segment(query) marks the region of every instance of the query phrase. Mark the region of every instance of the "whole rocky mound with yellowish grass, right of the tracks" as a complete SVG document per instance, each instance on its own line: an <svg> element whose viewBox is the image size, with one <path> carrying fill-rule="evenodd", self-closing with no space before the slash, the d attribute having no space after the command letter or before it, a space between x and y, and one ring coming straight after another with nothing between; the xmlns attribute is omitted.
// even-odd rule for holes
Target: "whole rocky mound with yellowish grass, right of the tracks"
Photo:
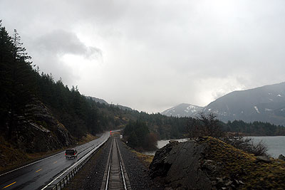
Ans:
<svg viewBox="0 0 285 190"><path fill-rule="evenodd" d="M284 160L255 157L212 137L167 144L150 164L150 176L166 189L285 189L284 171Z"/></svg>

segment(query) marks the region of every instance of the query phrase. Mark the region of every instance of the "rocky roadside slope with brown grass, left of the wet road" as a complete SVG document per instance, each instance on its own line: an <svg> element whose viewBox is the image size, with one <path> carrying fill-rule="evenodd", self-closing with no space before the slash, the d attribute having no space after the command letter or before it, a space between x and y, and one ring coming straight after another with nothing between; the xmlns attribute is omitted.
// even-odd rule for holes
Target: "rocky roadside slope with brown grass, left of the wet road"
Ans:
<svg viewBox="0 0 285 190"><path fill-rule="evenodd" d="M53 117L46 105L37 100L31 108L33 119L18 122L13 139L7 141L0 136L0 171L76 144L70 132Z"/></svg>

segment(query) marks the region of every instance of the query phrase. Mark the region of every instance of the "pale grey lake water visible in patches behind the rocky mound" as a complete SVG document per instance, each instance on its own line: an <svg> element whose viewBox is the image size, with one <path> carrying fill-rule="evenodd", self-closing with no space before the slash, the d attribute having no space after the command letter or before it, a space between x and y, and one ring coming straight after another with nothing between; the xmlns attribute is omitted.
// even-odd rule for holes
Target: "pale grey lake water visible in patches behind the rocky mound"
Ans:
<svg viewBox="0 0 285 190"><path fill-rule="evenodd" d="M285 136L275 137L250 137L254 143L258 143L262 140L266 144L268 151L267 153L274 158L279 157L279 154L285 156ZM169 143L170 140L159 140L157 141L157 148L162 148ZM178 142L185 142L187 139L177 139ZM155 152L144 152L144 154L155 155Z"/></svg>

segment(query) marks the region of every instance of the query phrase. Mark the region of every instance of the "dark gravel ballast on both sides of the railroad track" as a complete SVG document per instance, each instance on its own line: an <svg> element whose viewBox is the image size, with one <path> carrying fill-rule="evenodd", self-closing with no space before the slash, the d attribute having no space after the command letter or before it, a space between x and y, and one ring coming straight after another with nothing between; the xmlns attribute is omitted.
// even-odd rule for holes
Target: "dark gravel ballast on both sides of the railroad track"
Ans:
<svg viewBox="0 0 285 190"><path fill-rule="evenodd" d="M65 189L68 190L91 190L100 189L103 174L107 164L108 153L110 151L111 138L101 147L89 162L76 174ZM160 184L150 179L148 168L142 163L135 153L131 152L125 144L118 140L120 153L123 157L125 169L130 179L130 186L133 190L161 190Z"/></svg>

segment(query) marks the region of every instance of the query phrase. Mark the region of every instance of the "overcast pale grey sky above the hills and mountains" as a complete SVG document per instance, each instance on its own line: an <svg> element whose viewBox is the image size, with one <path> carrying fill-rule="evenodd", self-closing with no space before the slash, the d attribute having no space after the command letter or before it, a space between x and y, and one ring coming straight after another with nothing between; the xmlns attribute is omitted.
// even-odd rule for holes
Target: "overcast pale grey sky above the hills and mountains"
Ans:
<svg viewBox="0 0 285 190"><path fill-rule="evenodd" d="M33 63L146 112L285 81L285 1L13 1L0 19Z"/></svg>

